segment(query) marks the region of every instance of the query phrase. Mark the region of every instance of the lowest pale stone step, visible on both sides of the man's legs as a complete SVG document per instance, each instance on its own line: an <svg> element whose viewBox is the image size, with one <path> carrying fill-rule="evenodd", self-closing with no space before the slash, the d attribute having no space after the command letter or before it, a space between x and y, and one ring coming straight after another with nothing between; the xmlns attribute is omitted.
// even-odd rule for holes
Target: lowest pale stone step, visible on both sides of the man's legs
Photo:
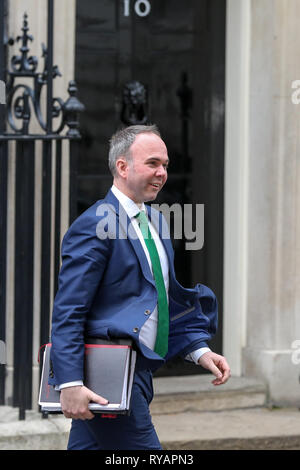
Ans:
<svg viewBox="0 0 300 470"><path fill-rule="evenodd" d="M66 449L71 420L28 418L0 422L0 450ZM164 450L300 450L299 418L297 408L262 407L156 414L152 420Z"/></svg>

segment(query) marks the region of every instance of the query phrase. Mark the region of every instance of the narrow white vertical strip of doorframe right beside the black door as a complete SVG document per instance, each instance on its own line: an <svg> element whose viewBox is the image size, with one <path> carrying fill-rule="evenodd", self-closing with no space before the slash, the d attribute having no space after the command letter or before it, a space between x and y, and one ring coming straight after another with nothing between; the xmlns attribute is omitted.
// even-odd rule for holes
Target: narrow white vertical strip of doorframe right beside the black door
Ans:
<svg viewBox="0 0 300 470"><path fill-rule="evenodd" d="M246 345L250 0L227 0L224 355L242 373Z"/></svg>

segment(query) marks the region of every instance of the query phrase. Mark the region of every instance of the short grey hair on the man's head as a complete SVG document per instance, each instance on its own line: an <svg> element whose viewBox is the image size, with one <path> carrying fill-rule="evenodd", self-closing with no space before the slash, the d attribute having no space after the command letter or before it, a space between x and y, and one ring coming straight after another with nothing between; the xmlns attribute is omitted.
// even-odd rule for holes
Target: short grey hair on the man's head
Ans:
<svg viewBox="0 0 300 470"><path fill-rule="evenodd" d="M130 147L135 141L136 136L147 132L161 137L158 127L155 124L125 127L112 136L109 141L108 166L113 176L117 174L116 162L118 158L125 157L125 159L130 162Z"/></svg>

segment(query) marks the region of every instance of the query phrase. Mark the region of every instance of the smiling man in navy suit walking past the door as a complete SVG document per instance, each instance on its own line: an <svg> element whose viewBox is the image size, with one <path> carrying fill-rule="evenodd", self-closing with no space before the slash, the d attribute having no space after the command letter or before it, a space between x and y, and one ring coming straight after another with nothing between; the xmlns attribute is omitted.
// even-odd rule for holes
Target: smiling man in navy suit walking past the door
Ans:
<svg viewBox="0 0 300 470"><path fill-rule="evenodd" d="M166 222L144 204L154 201L165 184L168 163L156 126L118 131L110 141L111 190L64 237L52 317L50 382L61 390L64 415L73 418L69 449L160 449L149 413L152 371L176 355L210 370L214 385L230 377L226 359L207 346L217 327L215 295L202 284L185 289L177 282L171 241L164 235ZM137 218L141 212L155 242L167 298L163 353L155 349L158 286ZM88 409L90 401L107 400L83 385L85 336L133 339L138 358L129 416L108 419Z"/></svg>

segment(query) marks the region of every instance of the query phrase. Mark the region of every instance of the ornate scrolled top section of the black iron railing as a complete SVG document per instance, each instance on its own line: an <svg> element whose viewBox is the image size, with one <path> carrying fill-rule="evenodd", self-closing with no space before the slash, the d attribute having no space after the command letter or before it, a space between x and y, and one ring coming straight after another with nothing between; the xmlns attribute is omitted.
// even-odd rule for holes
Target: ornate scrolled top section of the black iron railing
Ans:
<svg viewBox="0 0 300 470"><path fill-rule="evenodd" d="M51 4L53 2L49 2ZM49 25L50 21L50 25ZM51 8L49 11L48 28L53 27L53 18L51 18ZM76 98L77 88L74 81L69 83L68 92L70 97L67 101L63 101L59 97L52 96L52 82L57 76L61 76L58 66L53 66L53 37L52 34L48 34L48 48L45 44L42 44L42 58L44 60L43 71L38 72L38 59L35 56L28 56L29 47L28 42L33 41L33 36L28 34L28 17L24 14L23 34L17 36L16 41L22 43L20 47L20 55L14 55L10 61L10 68L7 70L7 120L11 127L13 134L5 133L7 137L26 136L29 135L29 126L32 117L31 106L32 105L37 122L39 123L41 130L45 131L46 135L55 134L55 136L61 135L65 126L69 127L66 133L67 137L78 138L80 137L78 131L78 119L77 113L83 111L83 105ZM13 41L10 40L10 44ZM25 83L16 83L18 78L29 78L32 80L32 86ZM41 95L43 88L47 88L47 116L44 119L41 111ZM18 95L18 92L23 90L22 94ZM52 128L53 119L60 117L60 123L57 129ZM20 123L18 127L17 123ZM41 135L39 134L39 137ZM37 135L32 135L37 137ZM45 137L45 136L43 136ZM54 136L53 136L54 137Z"/></svg>

